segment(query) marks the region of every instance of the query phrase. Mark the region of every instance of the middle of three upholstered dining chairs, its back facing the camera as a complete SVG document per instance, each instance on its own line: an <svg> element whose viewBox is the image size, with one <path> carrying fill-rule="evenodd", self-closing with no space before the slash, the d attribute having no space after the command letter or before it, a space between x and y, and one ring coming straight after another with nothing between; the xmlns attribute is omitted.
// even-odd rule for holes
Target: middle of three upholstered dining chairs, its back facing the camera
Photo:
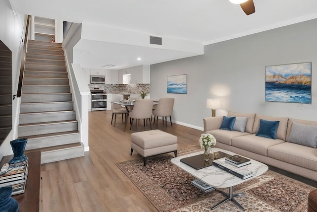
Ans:
<svg viewBox="0 0 317 212"><path fill-rule="evenodd" d="M152 125L151 125L152 109L153 109L152 99L136 99L133 109L129 113L129 116L131 118L130 130L132 129L134 120L135 120L135 130L137 130L138 122L140 122L140 119L143 119L144 128L145 128L145 120L149 119L150 128L152 130Z"/></svg>

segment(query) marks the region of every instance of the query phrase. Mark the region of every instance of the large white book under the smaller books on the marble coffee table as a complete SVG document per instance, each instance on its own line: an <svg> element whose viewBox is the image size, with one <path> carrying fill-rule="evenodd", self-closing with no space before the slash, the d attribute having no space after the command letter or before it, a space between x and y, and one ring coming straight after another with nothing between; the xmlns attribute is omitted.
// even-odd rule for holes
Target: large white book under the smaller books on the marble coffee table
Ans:
<svg viewBox="0 0 317 212"><path fill-rule="evenodd" d="M220 158L217 160L213 160L212 164L230 174L233 174L243 180L248 179L253 176L253 172L249 171L245 167L236 167L234 165L230 165L225 162L225 158Z"/></svg>

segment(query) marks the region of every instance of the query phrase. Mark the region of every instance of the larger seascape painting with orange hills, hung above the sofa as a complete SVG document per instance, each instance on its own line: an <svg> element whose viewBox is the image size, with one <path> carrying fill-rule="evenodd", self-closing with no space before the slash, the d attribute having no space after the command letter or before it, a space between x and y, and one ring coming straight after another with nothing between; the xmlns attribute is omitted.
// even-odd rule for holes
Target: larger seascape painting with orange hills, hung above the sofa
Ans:
<svg viewBox="0 0 317 212"><path fill-rule="evenodd" d="M312 63L265 67L265 101L312 103Z"/></svg>

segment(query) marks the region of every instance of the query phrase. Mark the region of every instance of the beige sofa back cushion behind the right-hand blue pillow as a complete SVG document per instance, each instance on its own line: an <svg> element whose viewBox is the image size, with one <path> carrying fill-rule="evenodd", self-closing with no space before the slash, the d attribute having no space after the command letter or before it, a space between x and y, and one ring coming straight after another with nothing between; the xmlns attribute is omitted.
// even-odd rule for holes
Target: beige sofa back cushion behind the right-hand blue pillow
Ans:
<svg viewBox="0 0 317 212"><path fill-rule="evenodd" d="M264 119L267 121L279 121L279 125L278 125L277 130L276 130L276 139L281 139L281 140L286 141L286 131L287 131L288 118L263 116L263 115L256 114L252 134L258 133L261 119Z"/></svg>

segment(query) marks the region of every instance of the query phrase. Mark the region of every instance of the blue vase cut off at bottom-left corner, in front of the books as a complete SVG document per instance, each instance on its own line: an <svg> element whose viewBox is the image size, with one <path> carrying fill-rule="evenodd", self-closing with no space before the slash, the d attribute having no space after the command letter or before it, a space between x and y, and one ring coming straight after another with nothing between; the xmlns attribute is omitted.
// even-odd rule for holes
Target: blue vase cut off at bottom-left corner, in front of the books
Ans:
<svg viewBox="0 0 317 212"><path fill-rule="evenodd" d="M0 188L0 212L18 212L19 204L11 197L12 187Z"/></svg>

